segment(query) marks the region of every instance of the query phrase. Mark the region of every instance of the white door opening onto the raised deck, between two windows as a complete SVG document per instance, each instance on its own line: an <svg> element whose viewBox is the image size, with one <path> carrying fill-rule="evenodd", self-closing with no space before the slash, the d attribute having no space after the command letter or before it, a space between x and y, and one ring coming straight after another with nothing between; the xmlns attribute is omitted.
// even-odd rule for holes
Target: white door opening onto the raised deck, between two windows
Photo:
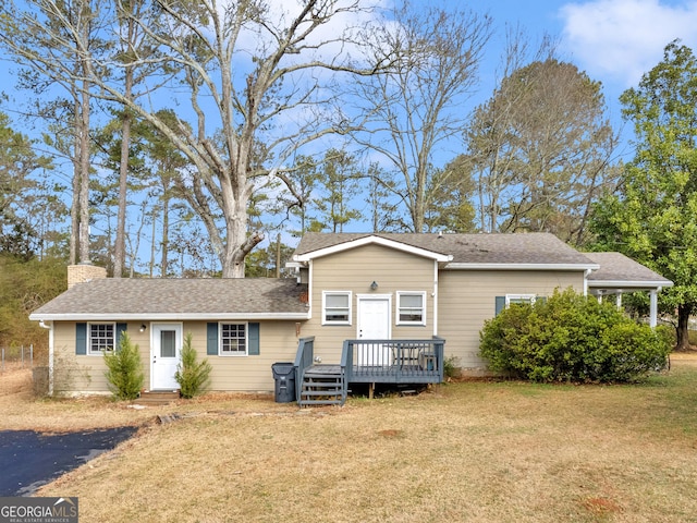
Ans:
<svg viewBox="0 0 697 523"><path fill-rule="evenodd" d="M391 335L390 295L370 295L358 297L358 339L389 340ZM390 350L382 343L359 345L358 365L389 365Z"/></svg>

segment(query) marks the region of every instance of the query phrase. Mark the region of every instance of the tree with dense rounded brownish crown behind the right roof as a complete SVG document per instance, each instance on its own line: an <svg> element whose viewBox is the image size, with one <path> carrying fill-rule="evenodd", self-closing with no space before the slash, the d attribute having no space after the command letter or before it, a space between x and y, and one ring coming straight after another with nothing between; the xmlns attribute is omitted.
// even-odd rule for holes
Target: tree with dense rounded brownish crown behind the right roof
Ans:
<svg viewBox="0 0 697 523"><path fill-rule="evenodd" d="M503 78L465 137L485 231L548 231L583 244L612 184L616 135L600 85L551 56Z"/></svg>

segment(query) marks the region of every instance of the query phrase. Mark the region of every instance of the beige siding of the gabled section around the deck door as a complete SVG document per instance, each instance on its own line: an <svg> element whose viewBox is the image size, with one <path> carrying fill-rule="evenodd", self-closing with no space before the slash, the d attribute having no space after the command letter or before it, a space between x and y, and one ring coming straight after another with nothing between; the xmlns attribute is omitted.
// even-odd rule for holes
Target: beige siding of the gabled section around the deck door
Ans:
<svg viewBox="0 0 697 523"><path fill-rule="evenodd" d="M381 245L365 245L313 260L311 314L302 336L315 337L315 354L322 363L339 363L344 340L357 338L358 295L391 296L392 338L433 336L435 262ZM370 283L378 283L374 291ZM351 325L322 325L322 291L351 291ZM396 325L396 291L426 293L426 325Z"/></svg>

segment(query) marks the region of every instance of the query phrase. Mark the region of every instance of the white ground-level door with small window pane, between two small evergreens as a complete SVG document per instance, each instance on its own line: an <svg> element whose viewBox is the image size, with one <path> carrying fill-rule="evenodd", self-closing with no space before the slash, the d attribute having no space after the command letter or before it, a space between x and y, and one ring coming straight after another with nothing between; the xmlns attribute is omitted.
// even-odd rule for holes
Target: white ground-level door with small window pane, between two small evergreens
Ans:
<svg viewBox="0 0 697 523"><path fill-rule="evenodd" d="M182 324L152 324L150 389L176 390L174 379L182 352Z"/></svg>

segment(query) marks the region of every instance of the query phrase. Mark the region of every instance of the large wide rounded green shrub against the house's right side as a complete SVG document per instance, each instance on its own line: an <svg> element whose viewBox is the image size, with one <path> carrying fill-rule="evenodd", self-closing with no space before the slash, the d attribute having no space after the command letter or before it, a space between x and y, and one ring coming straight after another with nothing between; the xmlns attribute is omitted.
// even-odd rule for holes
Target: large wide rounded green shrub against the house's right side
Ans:
<svg viewBox="0 0 697 523"><path fill-rule="evenodd" d="M610 303L555 291L514 304L485 323L480 354L489 367L534 381L632 381L665 367L669 329L651 329Z"/></svg>

